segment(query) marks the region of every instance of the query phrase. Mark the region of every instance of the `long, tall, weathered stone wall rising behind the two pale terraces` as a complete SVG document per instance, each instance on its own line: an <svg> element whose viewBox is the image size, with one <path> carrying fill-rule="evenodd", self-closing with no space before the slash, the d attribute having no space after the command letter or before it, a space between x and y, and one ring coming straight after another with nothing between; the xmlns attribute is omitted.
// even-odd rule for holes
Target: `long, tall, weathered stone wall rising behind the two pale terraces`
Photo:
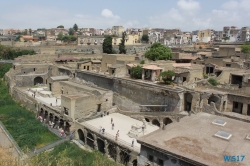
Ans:
<svg viewBox="0 0 250 166"><path fill-rule="evenodd" d="M129 108L127 105L133 101L133 105L138 107L142 105L168 105L168 110L179 112L182 110L182 92L171 90L170 88L159 87L157 85L140 83L133 80L111 78L97 73L78 71L76 77L94 83L95 85L112 90L114 93L123 97L123 100L116 98L114 95L115 103L124 108ZM133 106L132 105L132 106Z"/></svg>

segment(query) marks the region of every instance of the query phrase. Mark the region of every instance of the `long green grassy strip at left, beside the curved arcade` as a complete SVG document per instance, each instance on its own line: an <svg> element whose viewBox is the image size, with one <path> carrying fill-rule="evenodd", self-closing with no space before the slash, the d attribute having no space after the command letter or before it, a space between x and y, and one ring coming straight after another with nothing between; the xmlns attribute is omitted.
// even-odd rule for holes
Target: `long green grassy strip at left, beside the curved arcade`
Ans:
<svg viewBox="0 0 250 166"><path fill-rule="evenodd" d="M27 111L12 100L3 81L0 81L0 94L0 121L21 149L28 151L58 139L35 119L35 113Z"/></svg>

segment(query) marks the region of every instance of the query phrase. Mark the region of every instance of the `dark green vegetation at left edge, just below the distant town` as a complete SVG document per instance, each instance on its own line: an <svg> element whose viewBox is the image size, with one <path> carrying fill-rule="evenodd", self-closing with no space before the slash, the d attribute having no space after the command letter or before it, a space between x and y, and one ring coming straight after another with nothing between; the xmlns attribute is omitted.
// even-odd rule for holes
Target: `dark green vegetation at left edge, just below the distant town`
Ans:
<svg viewBox="0 0 250 166"><path fill-rule="evenodd" d="M13 48L10 46L0 45L0 59L14 59L22 55L34 55L36 52L34 50L21 50L18 48Z"/></svg>

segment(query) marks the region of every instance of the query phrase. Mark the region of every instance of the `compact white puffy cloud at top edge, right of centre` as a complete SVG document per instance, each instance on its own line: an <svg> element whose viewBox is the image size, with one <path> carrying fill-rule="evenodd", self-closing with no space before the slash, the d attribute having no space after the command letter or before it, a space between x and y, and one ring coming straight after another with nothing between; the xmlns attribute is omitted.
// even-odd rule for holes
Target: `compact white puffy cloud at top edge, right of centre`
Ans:
<svg viewBox="0 0 250 166"><path fill-rule="evenodd" d="M197 11L201 9L200 3L193 0L179 0L177 2L177 6L181 10L186 10L186 11Z"/></svg>

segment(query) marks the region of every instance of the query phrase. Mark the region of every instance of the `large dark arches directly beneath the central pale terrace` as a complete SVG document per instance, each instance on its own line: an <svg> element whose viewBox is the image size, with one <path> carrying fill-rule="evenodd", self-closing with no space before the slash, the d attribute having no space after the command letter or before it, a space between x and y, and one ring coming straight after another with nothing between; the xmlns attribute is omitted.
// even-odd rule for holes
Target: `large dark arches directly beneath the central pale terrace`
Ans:
<svg viewBox="0 0 250 166"><path fill-rule="evenodd" d="M116 162L127 165L130 160L130 155L125 150L118 150L117 146L114 143L109 143L105 145L105 142L93 136L89 131L83 132L82 129L77 130L79 140L83 142L84 145L89 146L92 149L99 150L102 153L107 153L109 156ZM96 144L95 144L96 141ZM96 146L96 147L95 147ZM105 147L107 146L107 147ZM118 159L119 158L119 159ZM133 166L137 166L137 160L132 161Z"/></svg>

